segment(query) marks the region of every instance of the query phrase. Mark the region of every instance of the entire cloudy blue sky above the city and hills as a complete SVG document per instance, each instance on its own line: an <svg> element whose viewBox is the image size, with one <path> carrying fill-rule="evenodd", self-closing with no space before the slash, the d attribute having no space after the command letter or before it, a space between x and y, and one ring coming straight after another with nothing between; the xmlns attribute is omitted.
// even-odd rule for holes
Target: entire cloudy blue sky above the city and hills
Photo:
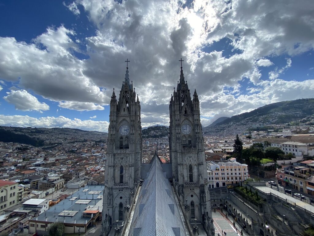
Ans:
<svg viewBox="0 0 314 236"><path fill-rule="evenodd" d="M312 0L0 0L0 125L106 132L126 73L142 127L183 72L201 122L314 97Z"/></svg>

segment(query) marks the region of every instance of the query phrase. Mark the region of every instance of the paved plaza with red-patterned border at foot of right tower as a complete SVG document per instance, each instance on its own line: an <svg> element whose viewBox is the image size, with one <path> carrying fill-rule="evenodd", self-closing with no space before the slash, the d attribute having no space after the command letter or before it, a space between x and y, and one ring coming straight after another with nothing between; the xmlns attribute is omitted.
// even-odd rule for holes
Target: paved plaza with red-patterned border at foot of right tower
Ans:
<svg viewBox="0 0 314 236"><path fill-rule="evenodd" d="M216 210L216 212L212 212L213 220L214 220L214 227L215 227L215 236L222 234L222 231L226 232L227 236L238 236L241 235L241 231L238 230L238 233L236 232L236 228L240 228L236 224L236 228L233 226L232 222L225 216L225 214L221 214L219 210ZM241 230L241 229L240 229ZM243 235L248 235L245 231L243 231Z"/></svg>

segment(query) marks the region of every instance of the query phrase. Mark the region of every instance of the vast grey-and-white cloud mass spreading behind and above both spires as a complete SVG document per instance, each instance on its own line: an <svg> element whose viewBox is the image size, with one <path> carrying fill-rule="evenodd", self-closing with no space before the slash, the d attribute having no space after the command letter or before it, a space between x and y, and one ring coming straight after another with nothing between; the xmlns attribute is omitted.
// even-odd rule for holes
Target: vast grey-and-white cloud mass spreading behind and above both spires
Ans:
<svg viewBox="0 0 314 236"><path fill-rule="evenodd" d="M189 88L197 89L206 117L254 109L285 99L289 92L294 97L302 94L303 84L290 87L284 72L293 67L295 55L313 49L314 5L307 1L194 1L190 8L182 8L175 0L78 0L72 4L73 9L82 5L97 28L94 35L79 41L73 38L80 32L62 25L48 28L31 43L2 37L1 79L16 81L15 86L69 109L99 110L109 104L112 88L121 87L123 62L128 58L145 124L169 124L169 99L179 79L181 57ZM230 45L224 49L207 51L226 39ZM84 51L77 45L81 42L86 42ZM225 56L228 47L233 49ZM73 51L88 59L78 59ZM286 66L272 59L282 55L291 58ZM272 63L276 69L269 80L261 80L263 67ZM249 94L240 89L243 78L250 79ZM272 87L278 83L289 89L279 88L280 95ZM307 94L312 94L311 83L304 84ZM226 95L225 87L233 91Z"/></svg>

